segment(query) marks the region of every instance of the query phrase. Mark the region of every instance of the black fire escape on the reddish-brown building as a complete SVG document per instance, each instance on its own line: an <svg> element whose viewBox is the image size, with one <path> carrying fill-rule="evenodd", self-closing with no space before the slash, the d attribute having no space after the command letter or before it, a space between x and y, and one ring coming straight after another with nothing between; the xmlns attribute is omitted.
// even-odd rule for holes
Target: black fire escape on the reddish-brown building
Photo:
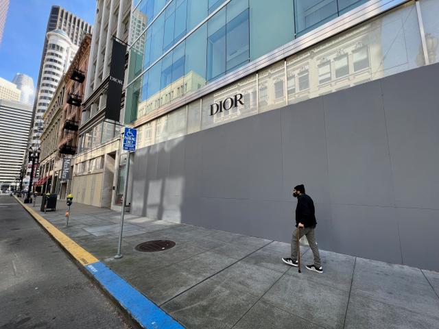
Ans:
<svg viewBox="0 0 439 329"><path fill-rule="evenodd" d="M82 103L82 88L84 72L74 69L70 79L73 85L67 94L67 104L64 106L65 121L62 125L62 138L58 145L60 154L75 154L78 148L78 129L80 127L80 106Z"/></svg>

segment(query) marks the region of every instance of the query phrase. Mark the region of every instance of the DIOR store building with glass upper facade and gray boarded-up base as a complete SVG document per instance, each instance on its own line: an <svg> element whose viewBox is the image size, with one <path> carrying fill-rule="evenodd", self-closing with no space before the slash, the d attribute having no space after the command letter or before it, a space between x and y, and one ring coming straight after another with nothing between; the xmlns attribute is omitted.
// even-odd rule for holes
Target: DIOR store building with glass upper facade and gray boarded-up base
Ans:
<svg viewBox="0 0 439 329"><path fill-rule="evenodd" d="M303 183L322 249L438 269L438 15L438 0L134 1L130 212L289 242Z"/></svg>

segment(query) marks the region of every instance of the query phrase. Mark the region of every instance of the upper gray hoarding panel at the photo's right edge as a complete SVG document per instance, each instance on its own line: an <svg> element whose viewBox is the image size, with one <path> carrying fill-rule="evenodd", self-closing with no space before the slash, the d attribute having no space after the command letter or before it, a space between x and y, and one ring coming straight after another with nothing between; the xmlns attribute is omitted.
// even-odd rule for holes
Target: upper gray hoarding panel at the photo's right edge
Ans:
<svg viewBox="0 0 439 329"><path fill-rule="evenodd" d="M438 71L430 65L382 81L397 206L439 209Z"/></svg>

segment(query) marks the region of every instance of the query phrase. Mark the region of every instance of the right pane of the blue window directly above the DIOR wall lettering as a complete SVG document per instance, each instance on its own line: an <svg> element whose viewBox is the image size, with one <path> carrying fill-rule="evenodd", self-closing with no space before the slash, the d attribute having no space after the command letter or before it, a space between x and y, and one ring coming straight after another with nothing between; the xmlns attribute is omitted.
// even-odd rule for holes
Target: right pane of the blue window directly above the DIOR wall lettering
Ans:
<svg viewBox="0 0 439 329"><path fill-rule="evenodd" d="M248 9L246 9L226 25L226 71L248 62L249 58Z"/></svg>

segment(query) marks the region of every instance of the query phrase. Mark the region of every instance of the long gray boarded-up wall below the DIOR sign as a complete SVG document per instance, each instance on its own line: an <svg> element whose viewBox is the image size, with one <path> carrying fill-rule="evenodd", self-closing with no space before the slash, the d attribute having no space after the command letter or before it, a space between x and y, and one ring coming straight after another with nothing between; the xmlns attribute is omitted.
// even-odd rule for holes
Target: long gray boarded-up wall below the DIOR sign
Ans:
<svg viewBox="0 0 439 329"><path fill-rule="evenodd" d="M289 242L303 183L322 249L439 270L438 75L425 66L139 149L132 213Z"/></svg>

